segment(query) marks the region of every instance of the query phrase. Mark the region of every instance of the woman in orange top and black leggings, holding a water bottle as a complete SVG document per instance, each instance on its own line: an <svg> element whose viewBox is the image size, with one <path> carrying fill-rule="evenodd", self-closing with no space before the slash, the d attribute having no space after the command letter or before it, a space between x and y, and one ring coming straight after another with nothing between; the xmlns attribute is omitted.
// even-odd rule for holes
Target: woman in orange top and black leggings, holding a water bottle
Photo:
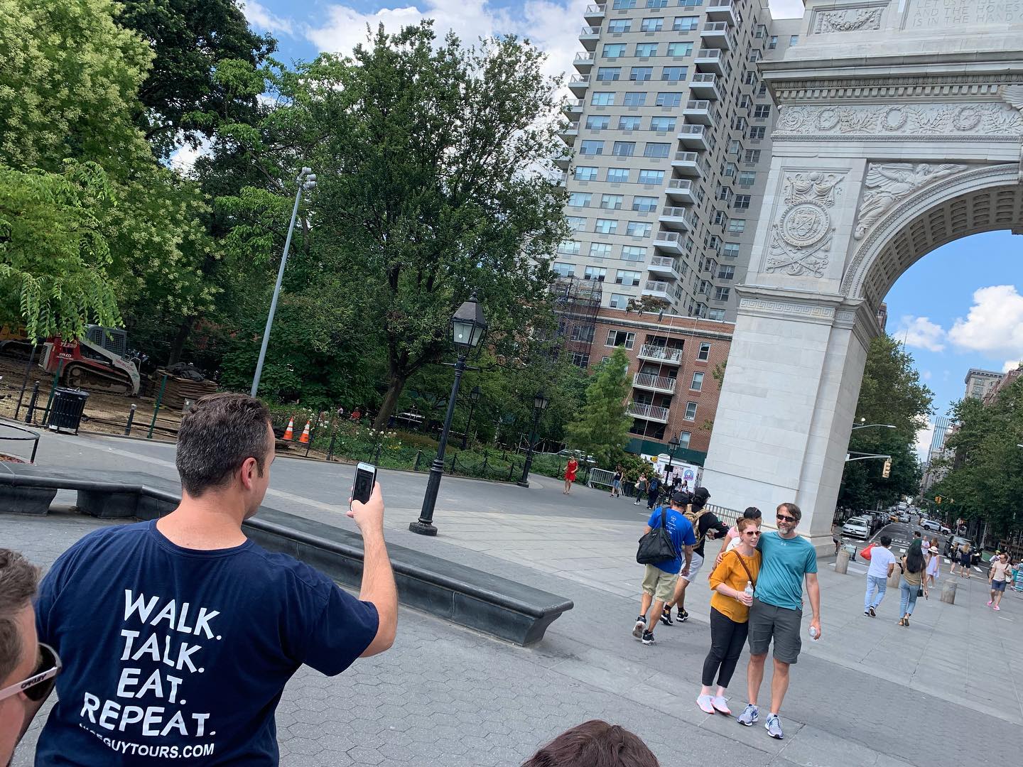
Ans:
<svg viewBox="0 0 1023 767"><path fill-rule="evenodd" d="M714 591L710 598L710 652L704 661L703 688L697 697L697 706L706 714L731 714L724 693L746 643L752 587L760 573L760 552L756 549L760 521L743 517L736 527L740 542L710 574ZM715 673L717 694L712 694Z"/></svg>

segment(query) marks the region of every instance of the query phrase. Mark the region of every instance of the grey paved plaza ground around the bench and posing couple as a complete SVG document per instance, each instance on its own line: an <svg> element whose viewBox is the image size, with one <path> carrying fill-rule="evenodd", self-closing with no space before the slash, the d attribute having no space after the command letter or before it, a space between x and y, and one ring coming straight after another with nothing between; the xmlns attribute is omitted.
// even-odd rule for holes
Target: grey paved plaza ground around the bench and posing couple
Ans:
<svg viewBox="0 0 1023 767"><path fill-rule="evenodd" d="M46 435L38 462L174 479L173 451ZM352 529L344 514L352 473L343 464L279 459L266 505ZM810 642L804 634L783 710L786 737L777 741L762 726L741 727L695 704L710 645L705 579L687 595L688 623L659 626L653 646L631 636L646 507L581 487L566 497L559 482L542 477L528 490L445 478L440 535L429 539L407 531L426 477L382 471L381 483L389 541L551 591L575 608L529 649L403 608L390 651L336 678L302 670L292 680L277 712L283 765L517 765L591 718L633 730L663 765L984 765L1023 743L1023 598L1009 594L1002 613L991 612L979 576L957 578L953 605L937 591L921 599L904 629L895 623L897 589L877 619L864 618L865 569L853 562L848 575L837 575L833 560L821 560L824 636ZM74 495L60 493L56 502L70 505ZM0 515L0 541L48 565L104 524L70 511ZM909 535L904 526L890 532L897 540ZM939 584L948 578L942 570ZM745 703L745 666L744 657L730 689L733 709ZM765 683L761 704L766 692ZM14 765L32 763L33 741L30 732Z"/></svg>

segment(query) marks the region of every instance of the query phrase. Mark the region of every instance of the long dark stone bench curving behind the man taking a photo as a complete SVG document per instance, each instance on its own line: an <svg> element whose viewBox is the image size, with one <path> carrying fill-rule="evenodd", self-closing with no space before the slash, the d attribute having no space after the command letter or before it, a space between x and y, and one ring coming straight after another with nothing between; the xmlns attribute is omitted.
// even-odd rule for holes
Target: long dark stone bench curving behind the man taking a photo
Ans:
<svg viewBox="0 0 1023 767"><path fill-rule="evenodd" d="M0 511L45 514L58 490L78 493L76 506L102 518L152 520L173 510L181 486L143 471L9 464L0 473ZM282 551L338 583L358 588L362 538L354 532L262 506L243 524L264 548ZM422 551L388 544L399 601L452 623L529 646L569 599Z"/></svg>

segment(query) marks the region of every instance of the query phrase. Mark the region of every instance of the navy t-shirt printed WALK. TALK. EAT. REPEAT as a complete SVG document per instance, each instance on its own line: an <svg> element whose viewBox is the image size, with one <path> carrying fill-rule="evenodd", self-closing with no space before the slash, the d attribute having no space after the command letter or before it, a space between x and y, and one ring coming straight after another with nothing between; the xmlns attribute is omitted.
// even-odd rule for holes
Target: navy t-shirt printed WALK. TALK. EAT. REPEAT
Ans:
<svg viewBox="0 0 1023 767"><path fill-rule="evenodd" d="M274 710L303 664L340 674L376 608L246 541L185 549L155 522L104 528L47 573L40 641L63 663L36 765L276 765Z"/></svg>

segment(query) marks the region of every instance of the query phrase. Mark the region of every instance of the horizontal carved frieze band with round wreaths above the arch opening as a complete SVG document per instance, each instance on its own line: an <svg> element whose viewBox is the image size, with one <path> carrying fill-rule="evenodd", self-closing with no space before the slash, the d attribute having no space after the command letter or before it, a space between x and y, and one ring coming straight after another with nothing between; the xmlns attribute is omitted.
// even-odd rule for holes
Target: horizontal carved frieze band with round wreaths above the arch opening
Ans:
<svg viewBox="0 0 1023 767"><path fill-rule="evenodd" d="M1007 103L789 105L780 107L772 137L1023 135L1023 115Z"/></svg>

